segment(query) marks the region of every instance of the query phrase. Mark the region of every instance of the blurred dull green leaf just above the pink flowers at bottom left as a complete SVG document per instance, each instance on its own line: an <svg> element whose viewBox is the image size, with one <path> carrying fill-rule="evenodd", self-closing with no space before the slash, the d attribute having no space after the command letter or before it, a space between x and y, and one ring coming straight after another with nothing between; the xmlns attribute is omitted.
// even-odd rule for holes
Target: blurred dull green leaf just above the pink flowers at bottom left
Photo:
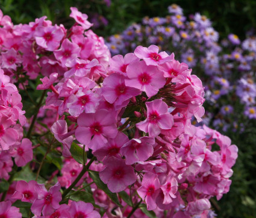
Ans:
<svg viewBox="0 0 256 218"><path fill-rule="evenodd" d="M13 180L14 181L19 181L19 180L24 180L26 182L29 182L31 180L36 179L36 173L33 173L32 170L30 169L29 164L27 164L25 167L22 168L19 172L14 174ZM43 179L40 175L37 178L38 183L45 183L45 179Z"/></svg>

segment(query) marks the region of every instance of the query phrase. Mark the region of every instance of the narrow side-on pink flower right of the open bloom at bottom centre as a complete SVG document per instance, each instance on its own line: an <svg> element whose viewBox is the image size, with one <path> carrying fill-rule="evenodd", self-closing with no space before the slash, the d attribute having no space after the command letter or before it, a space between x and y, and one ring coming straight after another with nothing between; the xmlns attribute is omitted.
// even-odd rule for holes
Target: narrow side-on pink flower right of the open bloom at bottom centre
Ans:
<svg viewBox="0 0 256 218"><path fill-rule="evenodd" d="M175 193L178 191L178 182L173 176L172 174L168 175L166 182L161 185L161 190L164 194L163 204L170 204L172 198L176 198Z"/></svg>

